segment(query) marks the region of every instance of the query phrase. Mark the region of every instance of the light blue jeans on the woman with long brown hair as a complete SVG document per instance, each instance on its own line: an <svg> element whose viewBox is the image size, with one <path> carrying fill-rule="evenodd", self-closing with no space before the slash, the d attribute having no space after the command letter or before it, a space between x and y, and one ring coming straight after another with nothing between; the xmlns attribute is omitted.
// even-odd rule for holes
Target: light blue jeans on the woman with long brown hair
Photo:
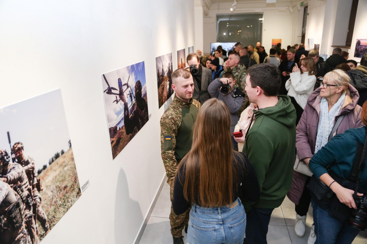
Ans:
<svg viewBox="0 0 367 244"><path fill-rule="evenodd" d="M190 244L242 244L245 229L246 213L239 198L229 207L192 204L187 232Z"/></svg>

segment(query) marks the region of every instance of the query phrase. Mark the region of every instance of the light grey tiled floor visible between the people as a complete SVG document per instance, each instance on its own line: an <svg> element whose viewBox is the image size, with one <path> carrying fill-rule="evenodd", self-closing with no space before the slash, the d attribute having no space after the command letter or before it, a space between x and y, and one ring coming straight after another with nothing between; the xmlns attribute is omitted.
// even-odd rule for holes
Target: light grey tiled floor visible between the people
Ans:
<svg viewBox="0 0 367 244"><path fill-rule="evenodd" d="M140 244L171 244L172 236L170 232L170 186L165 183L152 215L145 228ZM307 239L312 225L312 209L310 207L306 219L306 234L303 238L297 237L294 233L295 211L294 204L286 198L280 207L273 211L269 223L268 243L269 244L307 244ZM188 244L187 234L182 231L185 244ZM356 237L353 244L366 244L367 232L363 231Z"/></svg>

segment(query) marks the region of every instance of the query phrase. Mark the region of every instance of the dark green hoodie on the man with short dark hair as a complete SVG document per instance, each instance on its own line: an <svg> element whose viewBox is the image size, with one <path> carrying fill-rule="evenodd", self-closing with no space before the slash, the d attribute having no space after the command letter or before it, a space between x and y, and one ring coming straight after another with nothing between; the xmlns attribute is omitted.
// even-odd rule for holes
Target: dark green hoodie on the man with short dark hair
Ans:
<svg viewBox="0 0 367 244"><path fill-rule="evenodd" d="M254 167L261 191L257 202L241 199L247 211L252 206L279 207L291 188L297 116L288 96L278 99L275 106L254 110L256 120L246 136L243 153Z"/></svg>

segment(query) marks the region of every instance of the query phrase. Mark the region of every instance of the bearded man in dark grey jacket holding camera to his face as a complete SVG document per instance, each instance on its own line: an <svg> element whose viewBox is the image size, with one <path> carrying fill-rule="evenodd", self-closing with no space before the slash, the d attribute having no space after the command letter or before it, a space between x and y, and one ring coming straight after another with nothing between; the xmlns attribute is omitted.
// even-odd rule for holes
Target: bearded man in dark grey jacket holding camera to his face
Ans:
<svg viewBox="0 0 367 244"><path fill-rule="evenodd" d="M190 71L194 78L194 93L193 98L203 104L210 98L208 93L208 86L212 82L212 72L208 68L200 65L199 57L195 53L191 53L186 58L185 67Z"/></svg>

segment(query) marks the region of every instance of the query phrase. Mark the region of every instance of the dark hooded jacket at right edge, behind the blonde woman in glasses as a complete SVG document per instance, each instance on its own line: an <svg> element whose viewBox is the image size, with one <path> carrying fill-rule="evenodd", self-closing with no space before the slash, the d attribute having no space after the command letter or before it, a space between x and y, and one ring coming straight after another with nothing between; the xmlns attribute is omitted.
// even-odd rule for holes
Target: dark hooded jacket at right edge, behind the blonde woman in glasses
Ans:
<svg viewBox="0 0 367 244"><path fill-rule="evenodd" d="M367 100L367 67L359 65L357 68L349 70L347 74L351 79L349 83L359 93L358 105L363 106L363 103Z"/></svg>

